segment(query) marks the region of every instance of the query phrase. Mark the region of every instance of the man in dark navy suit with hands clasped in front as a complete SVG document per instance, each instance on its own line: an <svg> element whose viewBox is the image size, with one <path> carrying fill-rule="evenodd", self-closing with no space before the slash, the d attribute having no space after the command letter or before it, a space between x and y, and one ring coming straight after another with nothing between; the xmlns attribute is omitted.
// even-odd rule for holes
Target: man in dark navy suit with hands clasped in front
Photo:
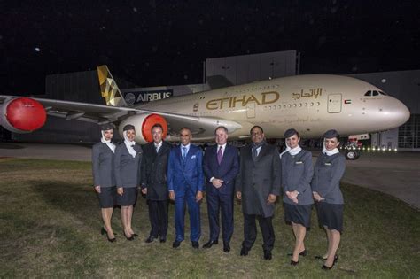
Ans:
<svg viewBox="0 0 420 279"><path fill-rule="evenodd" d="M233 234L233 193L235 177L239 171L237 148L227 144L228 129L218 127L214 131L214 146L206 148L203 168L206 174L206 197L210 240L203 248L218 244L219 212L222 211L223 251L230 252L230 238Z"/></svg>

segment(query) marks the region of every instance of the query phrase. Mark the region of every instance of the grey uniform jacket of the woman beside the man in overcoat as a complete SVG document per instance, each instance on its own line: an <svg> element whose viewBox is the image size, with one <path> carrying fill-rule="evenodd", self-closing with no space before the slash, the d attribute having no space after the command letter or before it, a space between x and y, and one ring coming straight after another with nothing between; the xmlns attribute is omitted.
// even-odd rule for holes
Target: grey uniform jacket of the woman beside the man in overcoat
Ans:
<svg viewBox="0 0 420 279"><path fill-rule="evenodd" d="M283 201L291 205L312 205L314 199L312 198L311 180L314 174L314 167L312 167L312 153L309 151L300 151L298 154L292 156L289 152L282 156L282 186L283 186ZM286 191L299 192L298 204L292 202L287 198Z"/></svg>

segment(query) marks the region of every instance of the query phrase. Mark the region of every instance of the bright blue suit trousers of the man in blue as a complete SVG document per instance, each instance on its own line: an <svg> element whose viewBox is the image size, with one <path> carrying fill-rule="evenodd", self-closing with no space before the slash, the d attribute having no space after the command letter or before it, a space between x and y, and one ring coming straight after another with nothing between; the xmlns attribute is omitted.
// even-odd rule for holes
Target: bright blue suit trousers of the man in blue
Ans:
<svg viewBox="0 0 420 279"><path fill-rule="evenodd" d="M182 196L182 195L181 195ZM185 225L185 205L188 206L190 215L190 239L198 241L201 236L201 225L199 219L199 202L196 202L196 195L187 187L184 196L180 197L175 191L175 240L183 241Z"/></svg>

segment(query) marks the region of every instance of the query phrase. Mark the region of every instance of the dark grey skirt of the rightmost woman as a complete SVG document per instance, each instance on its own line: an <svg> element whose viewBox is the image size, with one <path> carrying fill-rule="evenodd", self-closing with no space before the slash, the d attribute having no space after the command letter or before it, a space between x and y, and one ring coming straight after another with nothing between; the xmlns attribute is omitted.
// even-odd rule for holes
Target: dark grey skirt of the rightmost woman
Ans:
<svg viewBox="0 0 420 279"><path fill-rule="evenodd" d="M344 205L328 204L325 202L316 203L316 213L318 213L318 223L320 227L336 229L343 232L343 211Z"/></svg>

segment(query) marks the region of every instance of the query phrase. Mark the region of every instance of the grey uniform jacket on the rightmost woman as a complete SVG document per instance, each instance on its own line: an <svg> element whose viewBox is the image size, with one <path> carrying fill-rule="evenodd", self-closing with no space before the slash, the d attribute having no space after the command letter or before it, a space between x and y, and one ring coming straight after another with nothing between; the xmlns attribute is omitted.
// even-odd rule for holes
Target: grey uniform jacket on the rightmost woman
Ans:
<svg viewBox="0 0 420 279"><path fill-rule="evenodd" d="M346 158L340 154L331 156L321 154L315 163L315 174L312 179L312 190L317 192L329 204L344 203L339 189L339 181L346 170Z"/></svg>

